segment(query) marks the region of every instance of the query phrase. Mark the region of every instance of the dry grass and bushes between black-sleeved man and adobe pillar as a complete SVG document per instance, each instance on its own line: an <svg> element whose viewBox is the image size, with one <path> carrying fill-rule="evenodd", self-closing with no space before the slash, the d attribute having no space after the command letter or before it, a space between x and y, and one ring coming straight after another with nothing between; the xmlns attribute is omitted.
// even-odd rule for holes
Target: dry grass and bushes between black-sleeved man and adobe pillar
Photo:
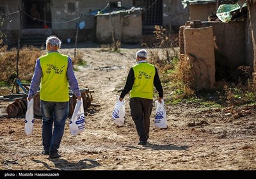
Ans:
<svg viewBox="0 0 256 179"><path fill-rule="evenodd" d="M179 50L173 47L173 40L166 29L160 26L155 26L155 29L154 42L150 45L143 44L146 47L151 47L152 44L157 47L148 48L148 62L157 67L161 82L166 84L174 100L191 97L195 91L190 87L192 75L189 59L179 57Z"/></svg>

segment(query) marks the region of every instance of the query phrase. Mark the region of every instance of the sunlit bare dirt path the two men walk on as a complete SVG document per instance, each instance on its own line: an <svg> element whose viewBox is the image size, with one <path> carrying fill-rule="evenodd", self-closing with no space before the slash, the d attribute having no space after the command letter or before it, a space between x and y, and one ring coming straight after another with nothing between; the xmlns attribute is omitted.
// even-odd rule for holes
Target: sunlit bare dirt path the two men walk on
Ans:
<svg viewBox="0 0 256 179"><path fill-rule="evenodd" d="M36 118L34 133L29 137L24 133L24 117L0 118L0 170L255 170L254 106L211 109L198 104L166 105L168 129L153 128L153 111L149 144L138 146L127 95L125 125L115 125L111 113L116 95L124 86L137 50L115 53L99 48L77 49L88 65L79 66L76 72L79 85L93 89L93 102L100 104L90 108L86 130L71 136L67 120L60 147L63 157L49 159L41 155L40 118ZM72 56L74 49L61 52ZM167 93L170 91L164 91ZM8 102L0 102L2 114L6 105ZM243 115L235 119L228 115L230 111Z"/></svg>

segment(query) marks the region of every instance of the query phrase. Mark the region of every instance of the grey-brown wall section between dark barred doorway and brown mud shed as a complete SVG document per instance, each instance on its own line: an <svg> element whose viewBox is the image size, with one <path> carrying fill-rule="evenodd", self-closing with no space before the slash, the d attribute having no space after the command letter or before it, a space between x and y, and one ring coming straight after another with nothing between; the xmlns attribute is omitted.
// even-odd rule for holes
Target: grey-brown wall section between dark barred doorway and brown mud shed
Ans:
<svg viewBox="0 0 256 179"><path fill-rule="evenodd" d="M188 8L184 9L180 0L163 0L163 26L179 27L188 20Z"/></svg>

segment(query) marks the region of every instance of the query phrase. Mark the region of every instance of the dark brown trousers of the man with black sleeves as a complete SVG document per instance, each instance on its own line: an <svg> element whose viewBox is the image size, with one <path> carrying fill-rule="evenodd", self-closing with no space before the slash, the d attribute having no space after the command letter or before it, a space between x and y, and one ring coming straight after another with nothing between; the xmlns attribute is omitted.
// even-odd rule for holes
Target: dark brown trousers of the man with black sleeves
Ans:
<svg viewBox="0 0 256 179"><path fill-rule="evenodd" d="M147 141L149 137L150 115L153 108L153 100L145 98L130 98L132 120L135 123L140 141Z"/></svg>

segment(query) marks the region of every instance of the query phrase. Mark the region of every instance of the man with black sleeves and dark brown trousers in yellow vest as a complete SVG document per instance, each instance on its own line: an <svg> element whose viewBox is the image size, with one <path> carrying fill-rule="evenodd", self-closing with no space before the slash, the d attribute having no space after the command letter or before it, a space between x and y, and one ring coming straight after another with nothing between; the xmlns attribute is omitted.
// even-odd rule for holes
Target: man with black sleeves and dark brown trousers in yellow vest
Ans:
<svg viewBox="0 0 256 179"><path fill-rule="evenodd" d="M150 128L150 115L153 108L153 88L158 91L158 100L163 99L163 87L156 66L147 63L147 51L136 52L137 64L132 66L125 82L119 100L122 101L130 92L130 108L132 120L135 123L139 145L147 145Z"/></svg>

